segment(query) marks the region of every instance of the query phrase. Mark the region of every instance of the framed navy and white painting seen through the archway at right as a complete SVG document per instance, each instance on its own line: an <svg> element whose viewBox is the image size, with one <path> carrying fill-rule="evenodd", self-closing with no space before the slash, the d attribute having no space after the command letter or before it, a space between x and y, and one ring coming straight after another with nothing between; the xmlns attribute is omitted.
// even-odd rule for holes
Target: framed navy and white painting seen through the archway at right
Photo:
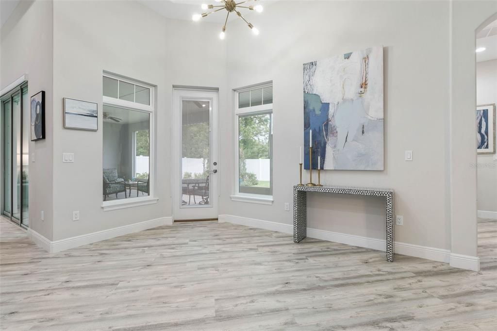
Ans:
<svg viewBox="0 0 497 331"><path fill-rule="evenodd" d="M478 154L496 152L496 105L476 107L476 144Z"/></svg>

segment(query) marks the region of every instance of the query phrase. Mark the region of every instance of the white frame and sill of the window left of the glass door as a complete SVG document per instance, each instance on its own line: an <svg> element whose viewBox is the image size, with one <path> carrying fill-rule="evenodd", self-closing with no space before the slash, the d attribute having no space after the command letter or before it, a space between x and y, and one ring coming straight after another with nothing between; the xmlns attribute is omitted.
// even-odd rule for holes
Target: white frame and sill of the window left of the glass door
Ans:
<svg viewBox="0 0 497 331"><path fill-rule="evenodd" d="M152 85L150 83L145 83L142 81L138 80L133 80L130 78L122 77L116 74L111 74L108 72L103 72L102 74L102 79L103 77L108 77L114 80L130 83L130 84L135 84L135 85L140 85L143 87L147 87L150 89L150 105L138 103L138 102L132 102L132 101L127 101L127 100L122 100L118 98L113 98L109 96L104 96L103 92L103 105L104 106L113 106L113 107L119 107L119 108L124 108L128 110L133 110L133 111L140 111L144 113L148 113L149 116L149 134L150 134L150 152L149 152L149 195L148 196L142 196L142 197L130 197L127 199L120 199L120 200L111 200L111 201L102 201L102 208L104 211L110 211L110 210L116 210L116 209L123 209L123 208L130 208L130 207L137 207L137 206L143 206L143 205L150 205L157 203L159 198L155 197L154 195L154 186L155 186L155 181L156 181L156 172L155 172L155 141L156 141L156 136L155 136L155 93L156 93L156 86ZM119 83L118 83L118 96L119 96ZM102 129L103 130L103 129ZM132 140L133 145L135 139ZM132 147L135 149L135 146ZM135 153L136 154L136 153ZM135 157L136 159L136 157ZM134 167L134 163L136 160L133 161L132 167ZM135 169L133 169L135 171Z"/></svg>

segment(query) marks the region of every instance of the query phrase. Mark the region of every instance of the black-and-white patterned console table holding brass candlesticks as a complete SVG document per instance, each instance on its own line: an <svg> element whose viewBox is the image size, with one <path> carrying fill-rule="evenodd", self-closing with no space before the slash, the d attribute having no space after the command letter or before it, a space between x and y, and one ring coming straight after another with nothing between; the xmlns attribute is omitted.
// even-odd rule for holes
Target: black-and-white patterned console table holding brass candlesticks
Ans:
<svg viewBox="0 0 497 331"><path fill-rule="evenodd" d="M298 186L293 187L293 242L298 243L307 237L307 192L384 196L387 222L387 261L394 261L394 190L385 188L365 188L348 186Z"/></svg>

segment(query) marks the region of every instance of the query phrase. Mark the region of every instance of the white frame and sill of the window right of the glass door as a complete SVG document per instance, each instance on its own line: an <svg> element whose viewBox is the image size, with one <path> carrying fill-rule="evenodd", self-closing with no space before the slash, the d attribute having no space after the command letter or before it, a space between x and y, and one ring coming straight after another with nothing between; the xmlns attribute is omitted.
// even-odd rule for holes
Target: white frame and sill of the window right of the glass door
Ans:
<svg viewBox="0 0 497 331"><path fill-rule="evenodd" d="M232 194L231 200L232 201L239 201L239 202L248 202L248 203L258 203L258 204L264 204L264 205L272 205L273 203L273 195L274 191L272 191L271 195L264 195L264 194L253 194L253 193L243 193L240 192L240 144L239 144L239 135L240 135L240 117L244 116L250 116L250 115L258 115L258 114L267 114L270 113L272 120L271 120L271 135L273 133L273 123L274 123L274 113L273 113L273 103L266 103L266 104L261 104L258 106L248 106L248 107L243 107L239 108L239 94L242 92L246 92L248 90L252 89L258 89L258 88L264 88L264 87L269 87L272 86L272 82L268 83L263 83L263 84L257 84L257 85L252 85L246 88L242 89L237 89L235 90L235 181L234 181L234 194ZM262 99L264 99L264 95L262 95ZM271 142L272 145L272 142ZM272 150L272 146L271 146ZM273 155L271 153L271 163L272 163L272 158ZM271 189L273 188L273 169L271 166Z"/></svg>

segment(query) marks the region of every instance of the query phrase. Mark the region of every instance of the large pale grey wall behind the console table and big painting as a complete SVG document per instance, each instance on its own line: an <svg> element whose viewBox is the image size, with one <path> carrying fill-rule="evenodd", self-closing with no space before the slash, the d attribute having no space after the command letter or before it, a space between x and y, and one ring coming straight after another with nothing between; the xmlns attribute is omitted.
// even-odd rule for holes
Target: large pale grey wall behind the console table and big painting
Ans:
<svg viewBox="0 0 497 331"><path fill-rule="evenodd" d="M395 240L450 249L450 16L448 1L316 1L312 6L292 1L267 6L263 15L249 17L261 31L257 38L245 25L231 25L227 34L229 87L271 80L274 84L273 165L277 171L273 173L272 206L254 208L223 196L220 214L292 223L292 213L283 210L283 202L292 202L292 185L298 182L297 152L303 140L302 64L383 45L385 170L323 171L322 182L393 188L395 213L404 216L404 226L395 229ZM474 67L471 61L464 64ZM230 102L233 104L233 95ZM221 124L225 132L221 149L230 151L228 158L233 160L232 112L222 117L230 121ZM405 150L414 151L413 162L404 161ZM234 189L234 165L230 171L222 190ZM476 192L474 200L475 196ZM385 238L379 199L311 194L308 219L313 228ZM476 226L475 220L469 221ZM476 233L468 241L473 245ZM476 255L472 248L459 252Z"/></svg>

